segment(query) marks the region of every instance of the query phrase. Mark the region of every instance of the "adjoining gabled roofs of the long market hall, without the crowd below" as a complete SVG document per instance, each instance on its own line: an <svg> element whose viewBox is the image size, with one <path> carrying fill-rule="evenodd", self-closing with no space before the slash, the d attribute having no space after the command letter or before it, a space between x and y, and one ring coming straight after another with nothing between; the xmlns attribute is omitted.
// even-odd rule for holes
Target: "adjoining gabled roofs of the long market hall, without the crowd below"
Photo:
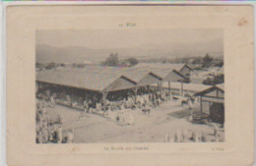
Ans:
<svg viewBox="0 0 256 166"><path fill-rule="evenodd" d="M41 71L36 74L36 81L95 91L113 91L132 88L136 83L140 85L159 83L160 80L174 73L166 68L87 66ZM176 73L174 75L177 78L181 77Z"/></svg>

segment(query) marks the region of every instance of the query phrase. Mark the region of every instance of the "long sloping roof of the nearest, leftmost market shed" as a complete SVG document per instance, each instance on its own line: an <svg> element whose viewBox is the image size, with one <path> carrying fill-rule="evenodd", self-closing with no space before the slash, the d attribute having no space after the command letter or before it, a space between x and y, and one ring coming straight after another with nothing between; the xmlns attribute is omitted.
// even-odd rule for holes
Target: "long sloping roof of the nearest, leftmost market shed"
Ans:
<svg viewBox="0 0 256 166"><path fill-rule="evenodd" d="M46 70L36 74L36 81L43 83L55 83L60 85L85 88L95 91L105 90L111 83L122 77L122 70L117 68L89 67L75 70ZM129 79L125 80L131 87ZM123 81L124 82L124 81ZM119 84L120 85L120 84ZM122 85L121 85L122 86ZM125 88L125 87L122 87ZM116 90L116 85L114 89Z"/></svg>

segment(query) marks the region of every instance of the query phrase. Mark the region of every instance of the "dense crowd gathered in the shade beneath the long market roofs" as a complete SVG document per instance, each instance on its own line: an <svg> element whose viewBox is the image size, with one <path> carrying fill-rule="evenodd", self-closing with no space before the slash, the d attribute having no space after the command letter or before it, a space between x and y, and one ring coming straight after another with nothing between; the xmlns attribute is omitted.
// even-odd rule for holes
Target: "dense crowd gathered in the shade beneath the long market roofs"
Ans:
<svg viewBox="0 0 256 166"><path fill-rule="evenodd" d="M161 102L172 99L171 93L166 90L160 91L157 88L151 88L147 91L141 87L136 95L131 91L109 92L103 101L100 93L46 86L37 90L36 96L51 103L63 104L87 112L118 110L121 105L131 109L146 106L157 107Z"/></svg>

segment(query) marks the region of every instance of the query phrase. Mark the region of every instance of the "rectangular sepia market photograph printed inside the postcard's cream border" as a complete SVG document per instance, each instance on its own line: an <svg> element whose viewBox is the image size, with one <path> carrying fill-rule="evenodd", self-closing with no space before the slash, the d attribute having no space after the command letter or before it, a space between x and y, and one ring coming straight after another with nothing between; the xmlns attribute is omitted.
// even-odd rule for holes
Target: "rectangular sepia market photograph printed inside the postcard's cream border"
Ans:
<svg viewBox="0 0 256 166"><path fill-rule="evenodd" d="M36 143L225 140L221 28L36 30L35 70Z"/></svg>

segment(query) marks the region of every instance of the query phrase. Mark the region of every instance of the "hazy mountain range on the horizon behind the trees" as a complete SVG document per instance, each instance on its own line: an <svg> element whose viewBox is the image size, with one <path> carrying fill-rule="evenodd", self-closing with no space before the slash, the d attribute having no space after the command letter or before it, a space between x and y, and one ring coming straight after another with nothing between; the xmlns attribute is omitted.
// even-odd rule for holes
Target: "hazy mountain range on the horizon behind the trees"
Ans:
<svg viewBox="0 0 256 166"><path fill-rule="evenodd" d="M66 46L55 47L46 44L36 45L35 56L36 62L39 63L92 63L98 64L109 57L110 53L117 53L119 59L126 59L130 57L138 60L153 59L153 58L167 58L175 59L177 57L189 56L204 56L209 53L211 56L223 56L223 52L218 52L214 48L206 49L205 47L193 47L185 45L180 46L167 45L154 46L148 45L138 46L135 48L114 48L114 49L94 49L83 46ZM166 48L166 49L165 49Z"/></svg>

